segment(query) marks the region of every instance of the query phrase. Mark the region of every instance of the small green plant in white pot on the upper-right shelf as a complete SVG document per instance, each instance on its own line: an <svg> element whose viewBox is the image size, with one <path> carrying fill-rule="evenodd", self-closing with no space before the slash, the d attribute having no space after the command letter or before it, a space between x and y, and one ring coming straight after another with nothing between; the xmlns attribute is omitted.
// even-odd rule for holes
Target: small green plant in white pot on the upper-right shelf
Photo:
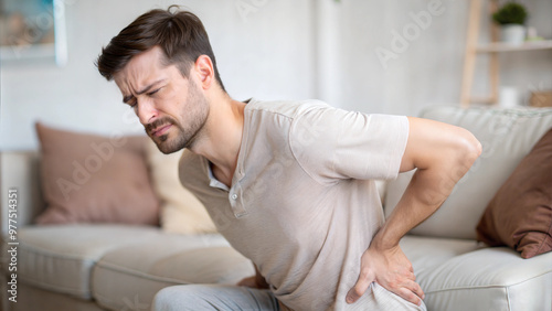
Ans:
<svg viewBox="0 0 552 311"><path fill-rule="evenodd" d="M521 44L526 40L527 18L526 7L517 2L507 2L492 14L492 20L501 25L502 41L511 44Z"/></svg>

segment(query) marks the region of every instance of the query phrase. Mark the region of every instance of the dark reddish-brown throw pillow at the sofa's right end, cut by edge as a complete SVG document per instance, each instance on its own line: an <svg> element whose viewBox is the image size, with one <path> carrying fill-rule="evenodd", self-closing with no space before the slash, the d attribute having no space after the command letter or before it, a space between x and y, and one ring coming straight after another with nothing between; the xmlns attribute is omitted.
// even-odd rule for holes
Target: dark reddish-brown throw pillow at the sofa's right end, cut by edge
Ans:
<svg viewBox="0 0 552 311"><path fill-rule="evenodd" d="M477 239L531 258L552 250L552 129L498 190L477 225Z"/></svg>

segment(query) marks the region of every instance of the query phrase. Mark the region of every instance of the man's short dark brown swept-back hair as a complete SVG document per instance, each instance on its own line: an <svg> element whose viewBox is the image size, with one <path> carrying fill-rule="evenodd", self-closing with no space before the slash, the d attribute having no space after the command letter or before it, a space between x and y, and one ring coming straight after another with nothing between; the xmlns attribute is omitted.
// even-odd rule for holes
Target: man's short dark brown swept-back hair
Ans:
<svg viewBox="0 0 552 311"><path fill-rule="evenodd" d="M102 49L96 61L99 74L110 81L132 56L159 45L166 57L163 64L176 64L187 78L198 57L208 55L213 62L215 78L224 90L203 23L195 14L179 11L178 8L170 6L167 10L151 10L121 30ZM174 12L171 12L172 9L176 9Z"/></svg>

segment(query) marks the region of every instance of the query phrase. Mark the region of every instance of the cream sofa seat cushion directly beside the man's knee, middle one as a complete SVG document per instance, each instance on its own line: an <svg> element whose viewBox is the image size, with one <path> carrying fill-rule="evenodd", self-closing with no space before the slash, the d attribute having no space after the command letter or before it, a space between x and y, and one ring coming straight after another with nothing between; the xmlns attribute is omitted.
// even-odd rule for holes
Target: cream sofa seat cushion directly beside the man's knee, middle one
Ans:
<svg viewBox="0 0 552 311"><path fill-rule="evenodd" d="M164 287L187 283L236 283L253 276L252 262L217 234L163 235L153 243L121 247L94 268L93 296L109 310L131 305L149 310Z"/></svg>

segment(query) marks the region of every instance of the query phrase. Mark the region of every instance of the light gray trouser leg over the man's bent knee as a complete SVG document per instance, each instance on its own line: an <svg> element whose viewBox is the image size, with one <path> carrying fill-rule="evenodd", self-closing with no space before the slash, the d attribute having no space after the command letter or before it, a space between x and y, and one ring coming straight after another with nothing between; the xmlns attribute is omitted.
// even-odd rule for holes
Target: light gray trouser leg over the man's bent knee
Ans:
<svg viewBox="0 0 552 311"><path fill-rule="evenodd" d="M238 286L184 285L161 289L153 299L151 310L280 311L280 308L278 301L269 290Z"/></svg>

